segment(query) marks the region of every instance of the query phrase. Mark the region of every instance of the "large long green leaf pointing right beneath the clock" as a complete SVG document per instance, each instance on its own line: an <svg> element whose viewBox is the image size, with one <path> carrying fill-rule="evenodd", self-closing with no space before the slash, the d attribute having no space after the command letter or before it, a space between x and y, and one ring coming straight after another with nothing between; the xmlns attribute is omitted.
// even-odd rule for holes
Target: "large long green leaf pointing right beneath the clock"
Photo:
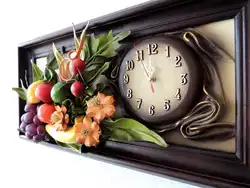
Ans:
<svg viewBox="0 0 250 188"><path fill-rule="evenodd" d="M115 121L104 120L103 124L109 130L106 133L110 136L111 140L147 141L163 147L168 146L161 136L133 119L120 118Z"/></svg>

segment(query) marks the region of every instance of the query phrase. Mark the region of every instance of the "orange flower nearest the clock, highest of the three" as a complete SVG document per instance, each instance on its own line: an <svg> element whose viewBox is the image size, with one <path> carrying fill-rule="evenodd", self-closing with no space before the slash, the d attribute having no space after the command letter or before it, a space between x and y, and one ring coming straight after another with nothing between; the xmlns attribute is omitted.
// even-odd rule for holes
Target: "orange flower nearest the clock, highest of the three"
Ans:
<svg viewBox="0 0 250 188"><path fill-rule="evenodd" d="M99 124L105 117L112 117L115 113L114 97L105 96L98 92L97 96L87 101L88 109L86 114L93 117Z"/></svg>

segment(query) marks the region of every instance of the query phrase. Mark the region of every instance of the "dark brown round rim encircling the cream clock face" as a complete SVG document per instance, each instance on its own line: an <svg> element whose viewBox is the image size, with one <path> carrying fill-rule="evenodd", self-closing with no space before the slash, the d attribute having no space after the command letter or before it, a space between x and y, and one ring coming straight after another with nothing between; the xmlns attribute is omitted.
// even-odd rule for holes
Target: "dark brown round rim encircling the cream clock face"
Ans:
<svg viewBox="0 0 250 188"><path fill-rule="evenodd" d="M174 46L175 48L179 49L180 54L184 56L185 61L188 61L188 72L189 72L189 80L191 83L189 83L187 95L184 99L182 99L181 104L173 110L171 113L168 113L164 116L150 116L150 117L142 117L138 116L136 114L136 110L129 104L128 99L125 94L124 89L124 83L123 83L123 74L126 71L125 70L125 58L126 55L133 50L134 46L139 45L142 42L145 42L147 40L154 40L154 41L163 41L166 42L166 44L169 44L170 46ZM195 103L200 98L199 95L201 94L202 89L202 80L203 80L203 74L202 74L202 67L200 65L199 59L196 57L195 52L183 41L177 38L169 37L169 36L148 36L145 38L142 38L140 40L137 40L133 45L130 45L130 49L127 50L127 52L124 54L119 68L119 74L118 74L118 86L119 86L119 92L124 104L124 107L129 115L134 117L135 119L149 125L153 126L155 128L155 125L164 126L164 124L170 124L175 121L178 121L181 117L185 116L192 106L195 105ZM189 82L190 82L189 81ZM190 96L189 96L190 95ZM192 102L189 102L189 101ZM181 110L180 110L181 109Z"/></svg>

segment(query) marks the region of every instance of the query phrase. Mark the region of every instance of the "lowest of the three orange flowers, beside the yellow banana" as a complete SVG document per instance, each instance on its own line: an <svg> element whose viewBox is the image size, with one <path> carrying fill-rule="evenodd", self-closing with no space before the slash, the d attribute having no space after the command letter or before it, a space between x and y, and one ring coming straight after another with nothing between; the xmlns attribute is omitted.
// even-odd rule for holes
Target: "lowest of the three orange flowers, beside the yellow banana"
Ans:
<svg viewBox="0 0 250 188"><path fill-rule="evenodd" d="M87 147L96 146L99 143L101 130L99 125L88 116L75 118L76 142Z"/></svg>

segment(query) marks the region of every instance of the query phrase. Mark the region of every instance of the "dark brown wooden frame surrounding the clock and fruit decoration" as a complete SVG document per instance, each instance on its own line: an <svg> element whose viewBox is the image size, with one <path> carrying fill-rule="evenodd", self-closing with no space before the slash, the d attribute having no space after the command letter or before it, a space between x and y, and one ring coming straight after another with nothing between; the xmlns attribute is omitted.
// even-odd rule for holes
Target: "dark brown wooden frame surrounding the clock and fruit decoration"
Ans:
<svg viewBox="0 0 250 188"><path fill-rule="evenodd" d="M127 8L90 21L89 33L100 34L112 29L114 33L128 29L129 40L155 33L197 26L234 18L236 44L236 152L171 145L167 149L108 141L87 156L139 168L152 173L174 176L216 187L250 186L250 0L159 0ZM76 26L79 34L85 23ZM226 32L226 31L225 31ZM73 48L72 28L21 44L19 77L24 70L30 77L32 57L41 57L51 51L55 42L62 50ZM24 102L19 100L23 113ZM20 117L19 117L20 118Z"/></svg>

